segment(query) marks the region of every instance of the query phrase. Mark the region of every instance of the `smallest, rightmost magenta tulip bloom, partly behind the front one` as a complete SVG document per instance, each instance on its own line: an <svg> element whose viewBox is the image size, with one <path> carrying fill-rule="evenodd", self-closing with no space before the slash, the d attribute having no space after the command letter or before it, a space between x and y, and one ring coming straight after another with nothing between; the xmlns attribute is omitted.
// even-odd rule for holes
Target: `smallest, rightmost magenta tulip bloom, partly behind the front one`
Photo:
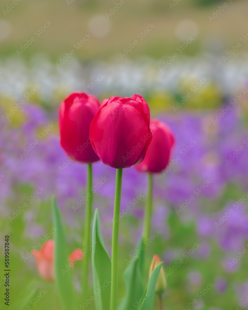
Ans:
<svg viewBox="0 0 248 310"><path fill-rule="evenodd" d="M166 168L170 161L175 138L170 128L157 119L151 120L150 127L153 134L152 142L147 149L143 162L135 166L135 169L142 172L159 173Z"/></svg>

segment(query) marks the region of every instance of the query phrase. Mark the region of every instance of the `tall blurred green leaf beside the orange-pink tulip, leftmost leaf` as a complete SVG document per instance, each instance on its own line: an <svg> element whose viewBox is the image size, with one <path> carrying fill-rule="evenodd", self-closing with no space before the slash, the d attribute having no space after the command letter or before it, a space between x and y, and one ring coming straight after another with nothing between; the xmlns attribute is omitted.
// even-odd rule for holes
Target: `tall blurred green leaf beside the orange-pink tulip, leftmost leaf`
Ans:
<svg viewBox="0 0 248 310"><path fill-rule="evenodd" d="M72 281L72 271L69 266L69 252L67 248L64 228L60 218L56 200L52 199L52 217L53 225L57 230L54 233L55 251L54 251L54 268L55 284L59 293L60 301L64 310L75 309L74 287ZM67 271L66 270L69 270Z"/></svg>

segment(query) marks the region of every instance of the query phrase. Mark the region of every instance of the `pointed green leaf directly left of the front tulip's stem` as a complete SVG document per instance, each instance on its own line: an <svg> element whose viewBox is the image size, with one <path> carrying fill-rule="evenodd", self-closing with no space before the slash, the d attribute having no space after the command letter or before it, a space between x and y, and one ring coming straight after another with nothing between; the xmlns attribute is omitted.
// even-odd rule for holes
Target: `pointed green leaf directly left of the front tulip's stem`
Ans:
<svg viewBox="0 0 248 310"><path fill-rule="evenodd" d="M95 210L92 232L92 272L96 310L109 310L111 293L111 260L103 243L97 209Z"/></svg>

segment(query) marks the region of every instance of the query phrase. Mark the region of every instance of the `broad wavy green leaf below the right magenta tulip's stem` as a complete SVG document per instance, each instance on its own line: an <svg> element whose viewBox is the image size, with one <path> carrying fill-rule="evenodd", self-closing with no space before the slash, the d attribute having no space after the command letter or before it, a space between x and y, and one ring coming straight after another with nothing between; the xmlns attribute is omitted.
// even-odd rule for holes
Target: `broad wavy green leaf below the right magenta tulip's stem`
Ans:
<svg viewBox="0 0 248 310"><path fill-rule="evenodd" d="M126 284L126 296L118 305L118 310L129 310L138 306L139 300L143 293L142 272L144 268L144 241L141 240L136 250L139 256L131 261L127 266L123 279Z"/></svg>

